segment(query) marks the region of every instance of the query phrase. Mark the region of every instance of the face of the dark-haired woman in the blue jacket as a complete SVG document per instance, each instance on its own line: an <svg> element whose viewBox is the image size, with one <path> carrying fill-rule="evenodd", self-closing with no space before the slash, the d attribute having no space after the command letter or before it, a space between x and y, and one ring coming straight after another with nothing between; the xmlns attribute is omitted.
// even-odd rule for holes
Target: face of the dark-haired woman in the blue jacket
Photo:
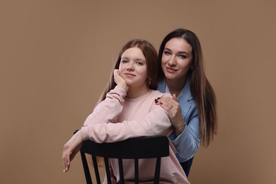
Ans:
<svg viewBox="0 0 276 184"><path fill-rule="evenodd" d="M192 67L192 47L183 38L172 38L166 42L161 66L166 79L185 79Z"/></svg>

